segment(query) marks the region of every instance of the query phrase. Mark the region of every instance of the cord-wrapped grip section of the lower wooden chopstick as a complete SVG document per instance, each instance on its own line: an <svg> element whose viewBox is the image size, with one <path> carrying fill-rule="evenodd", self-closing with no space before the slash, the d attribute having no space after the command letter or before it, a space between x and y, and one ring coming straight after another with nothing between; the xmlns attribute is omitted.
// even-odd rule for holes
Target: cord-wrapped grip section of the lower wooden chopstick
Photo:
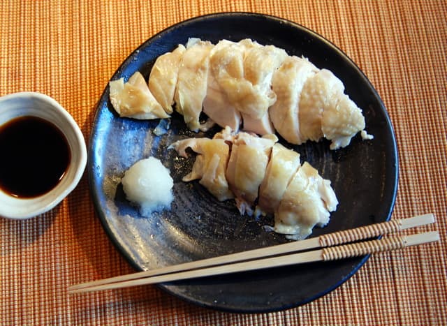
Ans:
<svg viewBox="0 0 447 326"><path fill-rule="evenodd" d="M381 251L393 251L406 246L405 237L389 237L381 240L371 240L367 242L357 242L355 244L345 244L334 246L322 250L323 260L337 260L343 258L358 257L369 253L379 253Z"/></svg>

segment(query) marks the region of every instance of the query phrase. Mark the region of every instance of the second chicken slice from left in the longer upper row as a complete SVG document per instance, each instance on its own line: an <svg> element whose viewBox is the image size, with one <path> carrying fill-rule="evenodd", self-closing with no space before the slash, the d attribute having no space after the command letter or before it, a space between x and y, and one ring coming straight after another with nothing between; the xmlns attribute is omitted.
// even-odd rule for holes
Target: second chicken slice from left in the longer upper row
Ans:
<svg viewBox="0 0 447 326"><path fill-rule="evenodd" d="M149 75L149 90L169 114L173 113L179 64L185 51L185 47L180 44L173 52L162 54L156 59Z"/></svg>

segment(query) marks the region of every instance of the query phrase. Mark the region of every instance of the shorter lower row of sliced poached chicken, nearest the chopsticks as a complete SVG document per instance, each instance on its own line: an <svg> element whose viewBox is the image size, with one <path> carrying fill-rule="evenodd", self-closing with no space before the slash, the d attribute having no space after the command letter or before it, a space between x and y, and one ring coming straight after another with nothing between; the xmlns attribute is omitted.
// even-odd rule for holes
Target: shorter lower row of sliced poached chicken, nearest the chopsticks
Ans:
<svg viewBox="0 0 447 326"><path fill-rule="evenodd" d="M300 165L300 155L277 140L227 127L212 139L187 138L170 148L180 156L188 147L198 154L184 181L200 179L218 200L235 198L242 215L274 215L275 232L303 239L328 223L337 197L329 180L309 163Z"/></svg>

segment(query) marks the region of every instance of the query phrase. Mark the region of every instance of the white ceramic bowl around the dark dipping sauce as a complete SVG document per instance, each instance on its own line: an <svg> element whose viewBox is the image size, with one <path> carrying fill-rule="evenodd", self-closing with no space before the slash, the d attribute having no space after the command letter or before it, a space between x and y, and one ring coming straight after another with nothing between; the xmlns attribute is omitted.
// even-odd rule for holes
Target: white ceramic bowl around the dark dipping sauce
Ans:
<svg viewBox="0 0 447 326"><path fill-rule="evenodd" d="M57 126L66 137L71 161L57 186L38 197L15 198L0 189L0 216L6 218L31 218L54 208L78 185L87 164L87 148L80 128L57 101L35 92L0 97L0 126L11 119L25 116L39 117Z"/></svg>

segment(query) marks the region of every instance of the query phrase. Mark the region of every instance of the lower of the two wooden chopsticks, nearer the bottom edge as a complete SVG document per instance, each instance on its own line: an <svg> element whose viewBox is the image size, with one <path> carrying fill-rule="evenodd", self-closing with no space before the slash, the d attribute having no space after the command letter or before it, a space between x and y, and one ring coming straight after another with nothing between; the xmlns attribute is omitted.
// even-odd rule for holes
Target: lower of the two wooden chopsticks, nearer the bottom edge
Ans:
<svg viewBox="0 0 447 326"><path fill-rule="evenodd" d="M407 246L416 246L439 240L439 233L425 232L416 235L395 236L387 239L371 240L367 242L357 242L354 244L344 244L342 246L328 247L303 253L294 253L290 255L281 255L273 258L264 258L261 260L250 260L247 262L236 262L230 265L219 265L207 267L204 269L192 269L185 272L163 274L152 276L145 279L134 279L131 281L121 281L117 283L106 283L102 285L89 286L87 288L70 289L69 293L91 292L99 290L113 290L117 288L129 288L131 286L142 286L153 283L179 281L193 279L204 276L216 276L221 274L230 274L235 272L247 272L256 269L265 269L271 267L284 267L288 265L297 265L305 262L318 262L328 260L338 260L343 258L367 255L382 251L393 251L403 249Z"/></svg>

